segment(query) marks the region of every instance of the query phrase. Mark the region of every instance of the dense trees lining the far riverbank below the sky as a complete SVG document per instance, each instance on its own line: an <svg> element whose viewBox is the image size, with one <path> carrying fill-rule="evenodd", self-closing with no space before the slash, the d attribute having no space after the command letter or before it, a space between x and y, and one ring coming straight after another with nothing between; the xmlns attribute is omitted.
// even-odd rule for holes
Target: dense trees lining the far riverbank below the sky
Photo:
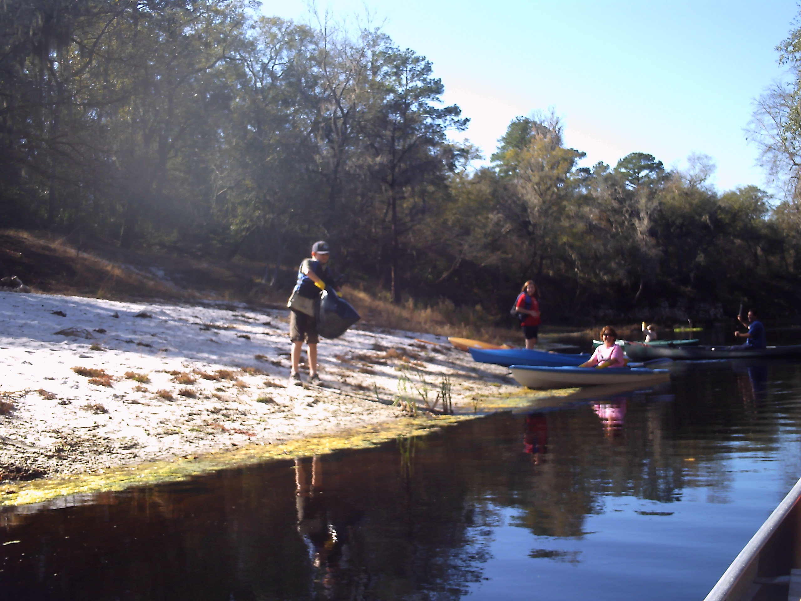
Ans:
<svg viewBox="0 0 801 601"><path fill-rule="evenodd" d="M476 167L424 56L371 27L255 8L3 2L2 223L247 256L273 288L326 239L337 270L390 301L499 316L531 277L550 321L716 319L743 299L795 314L801 30L779 48L795 83L755 115L790 182L774 205L759 188L716 192L700 155L686 172L642 151L581 167L553 114L513 119Z"/></svg>

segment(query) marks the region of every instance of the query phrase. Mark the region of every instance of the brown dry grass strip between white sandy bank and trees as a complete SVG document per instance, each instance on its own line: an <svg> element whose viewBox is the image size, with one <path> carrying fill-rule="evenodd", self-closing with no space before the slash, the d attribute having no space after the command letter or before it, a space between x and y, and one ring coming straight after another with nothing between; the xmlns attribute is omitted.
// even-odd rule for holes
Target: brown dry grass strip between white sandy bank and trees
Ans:
<svg viewBox="0 0 801 601"><path fill-rule="evenodd" d="M288 290L259 284L264 264L124 251L113 245L90 252L65 237L47 232L0 229L0 262L34 291L109 300L244 300L277 309L286 306ZM388 292L345 286L342 294L368 329L402 329L441 336L476 338L496 344L523 345L521 330L498 327L497 316L481 305L457 307L449 300L424 305L407 299L393 305ZM545 328L542 337L550 333ZM558 330L558 329L553 329ZM555 334L554 331L552 334Z"/></svg>

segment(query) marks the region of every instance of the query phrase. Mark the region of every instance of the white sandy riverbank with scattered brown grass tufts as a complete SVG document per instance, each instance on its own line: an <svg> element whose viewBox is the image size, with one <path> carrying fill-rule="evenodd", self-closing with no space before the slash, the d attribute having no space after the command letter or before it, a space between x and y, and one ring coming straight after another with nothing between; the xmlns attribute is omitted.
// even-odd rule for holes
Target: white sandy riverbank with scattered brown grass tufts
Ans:
<svg viewBox="0 0 801 601"><path fill-rule="evenodd" d="M286 310L0 292L0 479L364 429L408 417L399 381L421 407L449 384L457 412L519 390L433 335L354 329L319 349L324 386L288 387Z"/></svg>

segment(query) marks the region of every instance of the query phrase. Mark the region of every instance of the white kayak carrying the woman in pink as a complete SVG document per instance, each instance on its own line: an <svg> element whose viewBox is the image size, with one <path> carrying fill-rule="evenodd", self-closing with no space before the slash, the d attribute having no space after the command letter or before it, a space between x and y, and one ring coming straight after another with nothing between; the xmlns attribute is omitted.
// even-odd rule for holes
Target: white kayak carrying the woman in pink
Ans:
<svg viewBox="0 0 801 601"><path fill-rule="evenodd" d="M648 369L645 367L535 367L533 365L512 365L512 376L517 383L526 388L573 388L601 384L653 384L670 379L667 369Z"/></svg>

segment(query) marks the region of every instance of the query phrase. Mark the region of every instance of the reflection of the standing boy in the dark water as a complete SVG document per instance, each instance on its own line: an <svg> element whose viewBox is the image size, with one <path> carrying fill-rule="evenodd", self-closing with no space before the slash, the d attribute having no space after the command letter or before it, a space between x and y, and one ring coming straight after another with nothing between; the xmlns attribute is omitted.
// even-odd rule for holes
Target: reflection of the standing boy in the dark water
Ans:
<svg viewBox="0 0 801 601"><path fill-rule="evenodd" d="M323 469L320 458L312 458L312 474L308 465L295 459L295 502L297 528L303 537L316 571L316 583L323 585L323 595L332 599L340 579L342 544L334 525L328 519L328 507L323 491ZM311 483L309 479L311 478Z"/></svg>

